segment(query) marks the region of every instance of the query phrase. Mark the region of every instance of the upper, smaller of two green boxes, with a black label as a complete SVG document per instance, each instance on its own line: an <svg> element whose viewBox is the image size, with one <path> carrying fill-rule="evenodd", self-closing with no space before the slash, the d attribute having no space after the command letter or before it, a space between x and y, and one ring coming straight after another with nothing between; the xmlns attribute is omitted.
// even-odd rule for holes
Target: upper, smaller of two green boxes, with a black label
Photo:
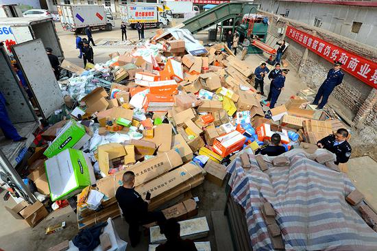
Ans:
<svg viewBox="0 0 377 251"><path fill-rule="evenodd" d="M68 148L75 148L80 149L86 141L88 141L87 137L84 137L86 134L85 127L81 123L77 123L71 119L68 123L66 123L58 135L56 139L54 139L47 147L46 151L43 153L47 158L51 158L56 154L68 149ZM82 138L84 137L84 140Z"/></svg>

